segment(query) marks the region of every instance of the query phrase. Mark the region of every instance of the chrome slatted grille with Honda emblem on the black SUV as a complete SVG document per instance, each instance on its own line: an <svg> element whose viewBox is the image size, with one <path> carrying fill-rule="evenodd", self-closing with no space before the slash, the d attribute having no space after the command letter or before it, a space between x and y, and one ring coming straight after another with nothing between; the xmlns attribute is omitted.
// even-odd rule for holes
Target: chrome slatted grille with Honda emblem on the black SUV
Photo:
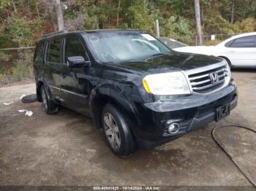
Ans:
<svg viewBox="0 0 256 191"><path fill-rule="evenodd" d="M189 74L189 82L192 90L196 93L208 93L216 90L225 83L228 76L226 66L220 66L216 69L200 71L200 73Z"/></svg>

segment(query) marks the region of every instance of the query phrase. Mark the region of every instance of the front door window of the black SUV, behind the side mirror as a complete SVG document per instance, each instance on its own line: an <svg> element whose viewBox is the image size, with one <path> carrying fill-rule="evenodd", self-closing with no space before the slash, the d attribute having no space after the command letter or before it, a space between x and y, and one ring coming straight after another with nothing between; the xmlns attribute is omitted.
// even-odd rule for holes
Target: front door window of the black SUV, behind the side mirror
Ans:
<svg viewBox="0 0 256 191"><path fill-rule="evenodd" d="M85 61L89 61L86 55L86 50L83 47L82 42L78 38L67 38L65 43L65 63L67 58L71 56L83 56Z"/></svg>

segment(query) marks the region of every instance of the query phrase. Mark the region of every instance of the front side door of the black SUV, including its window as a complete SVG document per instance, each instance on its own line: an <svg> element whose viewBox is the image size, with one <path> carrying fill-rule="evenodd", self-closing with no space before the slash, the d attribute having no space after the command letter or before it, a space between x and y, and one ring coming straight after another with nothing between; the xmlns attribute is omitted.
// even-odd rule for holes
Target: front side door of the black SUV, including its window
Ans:
<svg viewBox="0 0 256 191"><path fill-rule="evenodd" d="M65 38L64 42L64 66L62 74L63 83L61 92L65 96L65 104L70 109L83 114L89 114L89 70L90 66L82 68L69 68L67 58L72 56L83 56L89 61L85 43L79 36Z"/></svg>

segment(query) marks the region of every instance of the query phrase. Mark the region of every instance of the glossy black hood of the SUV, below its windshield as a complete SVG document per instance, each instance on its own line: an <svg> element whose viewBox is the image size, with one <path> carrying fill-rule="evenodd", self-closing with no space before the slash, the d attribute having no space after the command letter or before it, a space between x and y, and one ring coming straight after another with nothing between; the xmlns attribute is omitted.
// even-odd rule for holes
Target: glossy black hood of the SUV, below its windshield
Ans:
<svg viewBox="0 0 256 191"><path fill-rule="evenodd" d="M219 63L221 61L222 59L213 56L172 52L168 55L157 55L153 58L120 62L113 65L118 68L154 74L167 71L186 71Z"/></svg>

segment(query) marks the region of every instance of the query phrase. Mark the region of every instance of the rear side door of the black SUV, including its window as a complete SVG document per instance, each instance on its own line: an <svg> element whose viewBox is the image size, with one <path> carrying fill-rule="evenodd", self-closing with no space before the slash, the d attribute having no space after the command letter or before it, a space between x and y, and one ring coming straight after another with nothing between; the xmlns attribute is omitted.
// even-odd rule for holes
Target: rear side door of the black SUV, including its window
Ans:
<svg viewBox="0 0 256 191"><path fill-rule="evenodd" d="M64 103L64 98L61 95L60 88L63 83L62 71L64 69L63 59L62 59L62 46L64 39L57 38L51 39L47 44L47 52L45 56L45 68L46 71L46 81L50 87L50 92L56 101L60 104Z"/></svg>

